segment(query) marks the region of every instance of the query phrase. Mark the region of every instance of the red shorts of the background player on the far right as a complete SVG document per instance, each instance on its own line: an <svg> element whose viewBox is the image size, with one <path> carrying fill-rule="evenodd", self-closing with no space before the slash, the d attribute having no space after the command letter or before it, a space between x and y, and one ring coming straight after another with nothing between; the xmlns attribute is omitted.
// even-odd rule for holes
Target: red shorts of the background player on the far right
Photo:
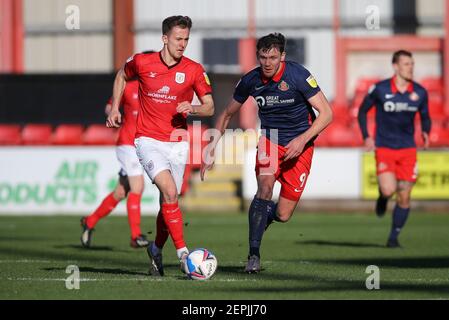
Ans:
<svg viewBox="0 0 449 320"><path fill-rule="evenodd" d="M392 172L397 180L416 182L418 166L416 148L376 148L377 175Z"/></svg>

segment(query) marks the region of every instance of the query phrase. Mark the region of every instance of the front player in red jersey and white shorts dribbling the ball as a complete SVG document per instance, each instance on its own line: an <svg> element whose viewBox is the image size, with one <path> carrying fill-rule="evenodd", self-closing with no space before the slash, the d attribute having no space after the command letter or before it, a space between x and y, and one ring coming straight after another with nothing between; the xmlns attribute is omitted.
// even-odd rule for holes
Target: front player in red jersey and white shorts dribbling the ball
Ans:
<svg viewBox="0 0 449 320"><path fill-rule="evenodd" d="M214 102L209 79L203 67L184 57L192 21L172 16L162 23L164 47L152 54L136 54L117 73L112 111L107 126L121 122L118 105L125 83L139 81L140 112L137 118L136 150L140 163L161 193L156 239L147 247L150 272L164 274L162 248L171 236L181 266L188 254L183 236L182 213L178 206L189 143L186 141L186 116L211 116ZM192 106L194 92L201 105Z"/></svg>

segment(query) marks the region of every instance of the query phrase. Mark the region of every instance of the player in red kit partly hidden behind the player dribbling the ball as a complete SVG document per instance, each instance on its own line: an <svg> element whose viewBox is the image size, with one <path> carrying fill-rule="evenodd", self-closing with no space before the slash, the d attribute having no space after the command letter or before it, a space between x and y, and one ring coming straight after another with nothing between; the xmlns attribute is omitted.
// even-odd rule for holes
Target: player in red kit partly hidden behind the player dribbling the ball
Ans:
<svg viewBox="0 0 449 320"><path fill-rule="evenodd" d="M131 246L146 247L148 240L140 229L140 200L144 189L143 169L136 155L134 136L136 134L136 120L139 112L139 83L130 81L126 84L120 105L123 106L124 119L117 140L116 154L121 170L119 180L113 192L103 199L100 206L89 216L81 219L83 232L81 244L90 247L92 231L97 222L107 216L117 204L128 197L126 208L128 223L131 229ZM106 105L106 115L112 110L112 101Z"/></svg>

